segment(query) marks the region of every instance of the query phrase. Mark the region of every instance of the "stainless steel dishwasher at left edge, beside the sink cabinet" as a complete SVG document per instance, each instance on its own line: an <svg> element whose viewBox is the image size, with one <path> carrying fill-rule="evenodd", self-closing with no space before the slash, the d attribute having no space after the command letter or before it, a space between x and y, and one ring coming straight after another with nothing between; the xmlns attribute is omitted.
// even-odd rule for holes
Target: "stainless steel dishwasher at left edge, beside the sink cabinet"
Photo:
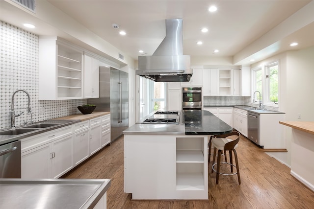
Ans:
<svg viewBox="0 0 314 209"><path fill-rule="evenodd" d="M0 145L0 178L21 178L21 141Z"/></svg>

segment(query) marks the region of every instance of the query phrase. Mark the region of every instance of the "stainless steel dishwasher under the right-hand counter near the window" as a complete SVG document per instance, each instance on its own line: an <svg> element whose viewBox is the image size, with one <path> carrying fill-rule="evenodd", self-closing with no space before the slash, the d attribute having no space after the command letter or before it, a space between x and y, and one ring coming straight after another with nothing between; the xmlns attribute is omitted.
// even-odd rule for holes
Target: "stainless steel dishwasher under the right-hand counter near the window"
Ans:
<svg viewBox="0 0 314 209"><path fill-rule="evenodd" d="M260 115L247 112L247 136L254 143L260 145Z"/></svg>

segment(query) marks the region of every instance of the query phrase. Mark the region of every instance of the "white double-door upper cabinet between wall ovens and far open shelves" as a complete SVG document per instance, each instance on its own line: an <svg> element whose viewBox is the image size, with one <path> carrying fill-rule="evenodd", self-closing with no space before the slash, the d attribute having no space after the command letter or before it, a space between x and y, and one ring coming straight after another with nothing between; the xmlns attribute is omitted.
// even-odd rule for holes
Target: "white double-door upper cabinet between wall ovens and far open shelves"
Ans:
<svg viewBox="0 0 314 209"><path fill-rule="evenodd" d="M203 70L203 95L218 95L218 69Z"/></svg>

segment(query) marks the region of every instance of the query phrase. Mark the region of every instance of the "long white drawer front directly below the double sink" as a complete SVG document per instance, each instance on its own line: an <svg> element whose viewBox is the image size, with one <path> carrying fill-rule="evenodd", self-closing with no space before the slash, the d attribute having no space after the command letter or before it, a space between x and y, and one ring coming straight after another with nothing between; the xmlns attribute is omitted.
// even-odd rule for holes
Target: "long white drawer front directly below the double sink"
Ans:
<svg viewBox="0 0 314 209"><path fill-rule="evenodd" d="M73 134L72 125L22 139L22 153L71 134Z"/></svg>

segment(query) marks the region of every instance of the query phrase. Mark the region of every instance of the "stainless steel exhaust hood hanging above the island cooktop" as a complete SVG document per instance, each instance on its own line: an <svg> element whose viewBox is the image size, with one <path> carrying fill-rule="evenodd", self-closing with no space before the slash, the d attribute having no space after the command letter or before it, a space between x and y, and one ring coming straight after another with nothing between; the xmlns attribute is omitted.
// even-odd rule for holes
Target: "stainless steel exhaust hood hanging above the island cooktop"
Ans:
<svg viewBox="0 0 314 209"><path fill-rule="evenodd" d="M156 82L189 81L190 55L183 55L183 20L166 20L166 36L152 56L138 56L136 74Z"/></svg>

